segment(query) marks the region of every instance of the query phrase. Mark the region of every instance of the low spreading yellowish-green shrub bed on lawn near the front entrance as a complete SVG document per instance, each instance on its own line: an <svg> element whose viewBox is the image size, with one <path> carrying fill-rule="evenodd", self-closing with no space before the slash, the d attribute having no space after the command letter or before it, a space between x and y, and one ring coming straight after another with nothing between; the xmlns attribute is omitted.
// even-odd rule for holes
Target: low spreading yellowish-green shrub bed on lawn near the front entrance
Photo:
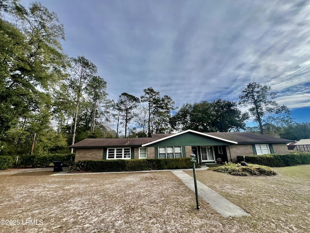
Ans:
<svg viewBox="0 0 310 233"><path fill-rule="evenodd" d="M210 167L210 170L228 173L235 176L271 176L277 174L269 166L256 164L241 166L240 164L225 163L223 166Z"/></svg>

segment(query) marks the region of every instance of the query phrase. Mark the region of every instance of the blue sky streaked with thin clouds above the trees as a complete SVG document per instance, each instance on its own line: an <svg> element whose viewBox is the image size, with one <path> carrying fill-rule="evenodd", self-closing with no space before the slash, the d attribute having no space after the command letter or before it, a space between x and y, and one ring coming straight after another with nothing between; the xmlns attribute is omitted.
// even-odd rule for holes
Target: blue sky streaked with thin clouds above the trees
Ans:
<svg viewBox="0 0 310 233"><path fill-rule="evenodd" d="M308 0L40 2L65 27L63 50L98 67L110 99L153 87L176 106L234 101L256 82L297 122L310 122Z"/></svg>

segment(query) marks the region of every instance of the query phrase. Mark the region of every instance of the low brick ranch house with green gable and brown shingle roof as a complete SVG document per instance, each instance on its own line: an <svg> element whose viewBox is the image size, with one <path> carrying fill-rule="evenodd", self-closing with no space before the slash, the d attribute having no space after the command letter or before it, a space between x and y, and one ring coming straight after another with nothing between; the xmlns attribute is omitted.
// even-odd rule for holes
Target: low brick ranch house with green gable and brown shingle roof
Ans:
<svg viewBox="0 0 310 233"><path fill-rule="evenodd" d="M199 163L216 163L218 159L237 161L238 155L289 152L291 140L249 132L153 134L149 138L89 138L71 148L75 161L102 159L185 158L191 153Z"/></svg>

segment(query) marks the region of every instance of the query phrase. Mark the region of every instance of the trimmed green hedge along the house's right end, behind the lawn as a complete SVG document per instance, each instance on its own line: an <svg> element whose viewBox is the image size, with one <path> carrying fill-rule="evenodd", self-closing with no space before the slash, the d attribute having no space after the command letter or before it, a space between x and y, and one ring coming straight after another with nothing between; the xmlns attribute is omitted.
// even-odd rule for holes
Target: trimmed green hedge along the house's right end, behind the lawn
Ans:
<svg viewBox="0 0 310 233"><path fill-rule="evenodd" d="M237 156L237 162L243 161L243 156ZM310 164L310 152L294 152L288 154L263 154L245 156L247 163L263 166L295 166Z"/></svg>

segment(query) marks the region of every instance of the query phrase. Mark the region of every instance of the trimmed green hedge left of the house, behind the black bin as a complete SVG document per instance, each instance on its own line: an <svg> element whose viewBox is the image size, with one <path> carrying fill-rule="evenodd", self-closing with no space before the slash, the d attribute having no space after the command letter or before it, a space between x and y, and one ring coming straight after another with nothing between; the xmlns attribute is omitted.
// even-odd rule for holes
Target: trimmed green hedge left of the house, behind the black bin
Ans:
<svg viewBox="0 0 310 233"><path fill-rule="evenodd" d="M24 154L18 156L18 162L16 165L15 156L0 156L0 169L7 169L10 167L19 166L45 167L49 166L55 161L62 161L63 166L69 166L74 163L74 159L75 154Z"/></svg>

